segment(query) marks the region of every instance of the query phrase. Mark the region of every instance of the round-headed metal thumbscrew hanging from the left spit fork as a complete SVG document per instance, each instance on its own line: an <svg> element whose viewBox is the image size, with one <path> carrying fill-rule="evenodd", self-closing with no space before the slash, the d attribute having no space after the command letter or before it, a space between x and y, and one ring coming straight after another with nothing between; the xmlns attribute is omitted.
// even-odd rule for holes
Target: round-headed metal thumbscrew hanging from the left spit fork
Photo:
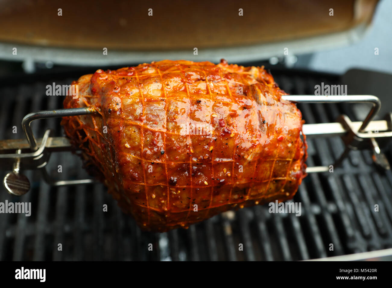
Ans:
<svg viewBox="0 0 392 288"><path fill-rule="evenodd" d="M22 151L18 149L16 153L21 154ZM9 172L5 175L3 180L4 187L8 190L8 192L16 196L22 196L30 190L29 179L27 179L27 177L23 174L20 174L19 169L20 158L17 158L13 166L13 172Z"/></svg>

